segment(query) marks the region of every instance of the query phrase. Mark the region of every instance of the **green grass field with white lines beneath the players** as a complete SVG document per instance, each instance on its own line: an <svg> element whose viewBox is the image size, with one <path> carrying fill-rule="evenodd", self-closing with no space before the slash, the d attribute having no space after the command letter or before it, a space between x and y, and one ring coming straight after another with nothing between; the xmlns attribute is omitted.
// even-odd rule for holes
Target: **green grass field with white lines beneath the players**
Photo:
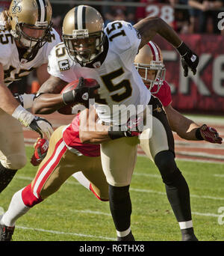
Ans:
<svg viewBox="0 0 224 256"><path fill-rule="evenodd" d="M27 147L30 158L33 152ZM190 188L195 233L201 241L224 241L224 165L177 161ZM0 195L7 210L13 193L28 185L37 168L22 168ZM179 241L181 233L155 165L139 156L131 182L132 231L138 241ZM223 211L218 213L218 209ZM222 215L223 214L223 217ZM220 224L218 222L220 220ZM73 177L58 192L16 222L14 241L113 241L108 202L102 202Z"/></svg>

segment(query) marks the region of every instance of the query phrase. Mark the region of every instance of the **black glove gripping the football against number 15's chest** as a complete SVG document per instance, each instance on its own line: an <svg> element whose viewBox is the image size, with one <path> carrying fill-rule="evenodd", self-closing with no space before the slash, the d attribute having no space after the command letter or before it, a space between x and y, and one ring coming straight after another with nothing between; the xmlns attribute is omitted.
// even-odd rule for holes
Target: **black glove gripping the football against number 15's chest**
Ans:
<svg viewBox="0 0 224 256"><path fill-rule="evenodd" d="M89 107L89 100L96 98L98 95L96 90L99 88L99 85L94 87L87 87L84 83L84 78L80 77L78 79L78 85L72 91L68 91L63 95L63 102L68 105L69 103L82 103L86 108Z"/></svg>

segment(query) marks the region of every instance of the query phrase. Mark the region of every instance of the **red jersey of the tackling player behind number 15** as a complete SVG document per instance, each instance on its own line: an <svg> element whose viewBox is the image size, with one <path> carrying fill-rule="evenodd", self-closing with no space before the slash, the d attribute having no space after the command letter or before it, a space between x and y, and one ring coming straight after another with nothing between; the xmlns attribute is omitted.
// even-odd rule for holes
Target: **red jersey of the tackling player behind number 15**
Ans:
<svg viewBox="0 0 224 256"><path fill-rule="evenodd" d="M157 85L154 85L152 90L157 91ZM164 106L168 106L172 103L171 91L168 83L164 81L163 85L161 86L160 90L157 94L153 94L155 97L158 97L161 100L161 103ZM96 157L100 156L100 145L99 144L83 144L79 138L79 114L75 116L72 120L72 123L69 124L69 127L63 131L63 141L66 143L68 147L72 147L81 155Z"/></svg>

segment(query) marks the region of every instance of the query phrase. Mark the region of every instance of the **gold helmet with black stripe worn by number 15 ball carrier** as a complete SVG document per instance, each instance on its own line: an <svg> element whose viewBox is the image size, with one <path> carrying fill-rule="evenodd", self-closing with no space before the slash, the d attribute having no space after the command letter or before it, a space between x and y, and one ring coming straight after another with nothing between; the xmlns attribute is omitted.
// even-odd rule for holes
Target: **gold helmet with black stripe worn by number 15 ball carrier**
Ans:
<svg viewBox="0 0 224 256"><path fill-rule="evenodd" d="M66 13L62 38L73 61L84 66L103 52L104 28L101 14L93 7L78 5Z"/></svg>

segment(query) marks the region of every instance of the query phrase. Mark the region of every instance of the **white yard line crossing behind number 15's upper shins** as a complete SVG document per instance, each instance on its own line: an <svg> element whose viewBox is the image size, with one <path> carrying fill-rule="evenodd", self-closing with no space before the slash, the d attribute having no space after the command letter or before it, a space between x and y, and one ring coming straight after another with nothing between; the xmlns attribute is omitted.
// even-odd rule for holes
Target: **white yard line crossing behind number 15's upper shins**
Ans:
<svg viewBox="0 0 224 256"><path fill-rule="evenodd" d="M33 180L33 178L31 177L23 177L23 176L16 176L17 178L19 179L24 179L25 180ZM15 178L16 178L15 177ZM80 183L78 182L75 182L75 181L69 181L69 180L66 180L67 184L69 185L81 185ZM154 194L158 194L158 195L167 195L166 192L161 192L161 191L155 191L155 190L152 190L152 189L134 189L134 188L130 188L130 191L134 191L134 192L146 192L146 193L154 193ZM224 200L224 198L217 198L217 197L214 197L214 196L210 196L210 195L190 195L191 198L206 198L206 199L213 199L213 200Z"/></svg>

